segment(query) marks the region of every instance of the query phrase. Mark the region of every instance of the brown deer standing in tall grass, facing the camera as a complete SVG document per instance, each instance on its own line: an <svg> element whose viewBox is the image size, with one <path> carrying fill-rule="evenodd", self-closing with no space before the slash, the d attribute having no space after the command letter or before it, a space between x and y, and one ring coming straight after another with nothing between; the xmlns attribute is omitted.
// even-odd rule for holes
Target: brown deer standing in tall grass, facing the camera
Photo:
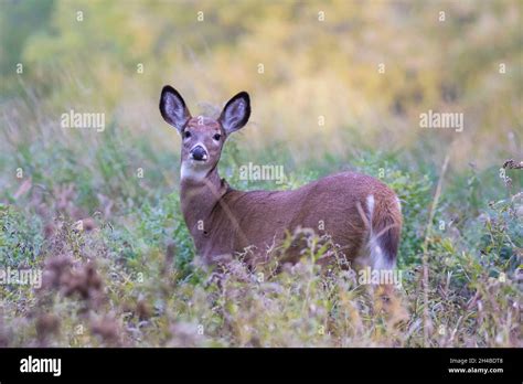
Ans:
<svg viewBox="0 0 523 384"><path fill-rule="evenodd" d="M314 232L328 234L355 268L395 268L402 206L396 193L380 180L345 171L296 190L238 191L220 178L217 164L227 138L250 117L249 95L233 96L217 119L192 117L180 93L166 85L160 113L181 136L180 205L204 264L228 263L249 248L258 250L247 259L256 266L286 234L318 228L321 222L322 230ZM299 255L288 259L297 263ZM377 291L384 307L397 307L392 303L394 287L380 285Z"/></svg>

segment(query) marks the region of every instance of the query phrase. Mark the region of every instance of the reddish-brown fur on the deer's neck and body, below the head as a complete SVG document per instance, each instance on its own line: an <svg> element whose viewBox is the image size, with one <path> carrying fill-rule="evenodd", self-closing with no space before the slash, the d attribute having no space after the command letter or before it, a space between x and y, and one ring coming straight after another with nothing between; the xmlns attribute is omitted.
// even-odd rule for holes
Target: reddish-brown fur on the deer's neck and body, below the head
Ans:
<svg viewBox="0 0 523 384"><path fill-rule="evenodd" d="M343 172L322 178L293 191L232 189L216 168L205 180L182 180L183 216L199 255L209 264L225 262L254 247L247 262L265 262L266 250L298 227L330 235L349 259L365 253L370 236L366 198L374 195L374 231L387 257L396 257L402 215L396 195L365 174ZM202 203L203 202L203 203ZM364 213L362 217L361 206Z"/></svg>

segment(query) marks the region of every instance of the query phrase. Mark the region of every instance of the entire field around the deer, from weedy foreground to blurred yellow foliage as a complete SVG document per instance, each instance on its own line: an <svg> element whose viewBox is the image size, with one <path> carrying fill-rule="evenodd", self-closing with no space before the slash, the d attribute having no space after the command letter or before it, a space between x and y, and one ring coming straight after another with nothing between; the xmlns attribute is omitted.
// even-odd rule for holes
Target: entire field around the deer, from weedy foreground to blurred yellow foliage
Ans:
<svg viewBox="0 0 523 384"><path fill-rule="evenodd" d="M0 346L523 346L521 1L0 8ZM279 274L203 267L164 84L210 116L249 92L220 162L236 189L341 170L394 189L408 321L321 270L316 239ZM425 128L429 110L463 125Z"/></svg>

